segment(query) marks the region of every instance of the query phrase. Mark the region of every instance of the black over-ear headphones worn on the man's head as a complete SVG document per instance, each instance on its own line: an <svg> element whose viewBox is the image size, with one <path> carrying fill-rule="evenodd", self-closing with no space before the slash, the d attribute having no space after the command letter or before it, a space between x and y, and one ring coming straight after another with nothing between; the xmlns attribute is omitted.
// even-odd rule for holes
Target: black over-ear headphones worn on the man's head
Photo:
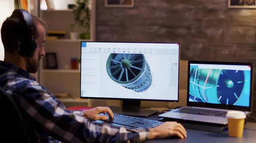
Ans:
<svg viewBox="0 0 256 143"><path fill-rule="evenodd" d="M18 53L23 57L32 57L34 55L37 45L35 39L33 38L33 22L29 11L25 9L15 9L12 15L20 15L22 20L26 22L27 32L24 34L19 41Z"/></svg>

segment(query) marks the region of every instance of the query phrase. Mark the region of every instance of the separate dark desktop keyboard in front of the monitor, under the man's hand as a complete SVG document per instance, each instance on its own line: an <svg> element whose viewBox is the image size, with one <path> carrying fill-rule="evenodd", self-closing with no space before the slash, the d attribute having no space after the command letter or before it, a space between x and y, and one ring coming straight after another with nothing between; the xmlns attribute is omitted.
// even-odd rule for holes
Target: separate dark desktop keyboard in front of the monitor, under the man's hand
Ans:
<svg viewBox="0 0 256 143"><path fill-rule="evenodd" d="M125 127L153 128L153 127L158 126L163 123L163 122L159 122L159 121L152 121L152 120L136 118L136 117L131 117L131 116L127 116L127 115L120 115L120 114L115 114L115 113L113 114L114 115L113 119L109 118L108 113L106 113L106 114L101 113L99 115L108 116L107 120L102 120L102 121L117 123L120 125L124 125Z"/></svg>

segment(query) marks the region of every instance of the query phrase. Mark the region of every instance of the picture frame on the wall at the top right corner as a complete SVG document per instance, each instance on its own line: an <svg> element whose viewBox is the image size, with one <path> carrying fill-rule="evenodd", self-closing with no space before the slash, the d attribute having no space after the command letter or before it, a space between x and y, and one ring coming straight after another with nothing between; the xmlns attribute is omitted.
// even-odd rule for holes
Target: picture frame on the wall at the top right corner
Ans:
<svg viewBox="0 0 256 143"><path fill-rule="evenodd" d="M256 0L228 0L228 8L256 8Z"/></svg>

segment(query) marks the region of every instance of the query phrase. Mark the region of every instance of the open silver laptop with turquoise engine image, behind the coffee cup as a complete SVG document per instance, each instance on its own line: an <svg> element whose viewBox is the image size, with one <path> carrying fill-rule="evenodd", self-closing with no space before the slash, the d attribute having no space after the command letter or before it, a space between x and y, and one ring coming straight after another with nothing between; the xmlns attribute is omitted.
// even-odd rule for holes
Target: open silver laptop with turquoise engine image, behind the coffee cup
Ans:
<svg viewBox="0 0 256 143"><path fill-rule="evenodd" d="M187 106L158 116L226 125L227 111L249 115L252 101L253 63L189 61Z"/></svg>

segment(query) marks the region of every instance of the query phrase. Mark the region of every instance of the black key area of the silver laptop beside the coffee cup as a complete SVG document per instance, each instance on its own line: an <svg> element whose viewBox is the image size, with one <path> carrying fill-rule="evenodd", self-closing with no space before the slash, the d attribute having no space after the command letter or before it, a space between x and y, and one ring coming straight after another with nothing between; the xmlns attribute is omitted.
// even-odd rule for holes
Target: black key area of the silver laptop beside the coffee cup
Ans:
<svg viewBox="0 0 256 143"><path fill-rule="evenodd" d="M216 110L207 110L207 109L195 109L195 108L178 108L172 112L187 113L187 114L196 114L196 115L206 115L206 116L215 116L215 117L226 117L227 112L225 111L216 111Z"/></svg>

